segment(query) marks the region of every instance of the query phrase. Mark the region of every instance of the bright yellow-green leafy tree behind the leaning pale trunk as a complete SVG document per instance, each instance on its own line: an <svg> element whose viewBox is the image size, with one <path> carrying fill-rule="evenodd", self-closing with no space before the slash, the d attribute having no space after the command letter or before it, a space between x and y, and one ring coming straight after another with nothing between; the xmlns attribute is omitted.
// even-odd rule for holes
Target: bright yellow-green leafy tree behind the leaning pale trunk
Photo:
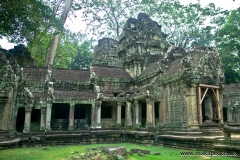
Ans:
<svg viewBox="0 0 240 160"><path fill-rule="evenodd" d="M46 52L48 50L49 43L51 42L51 38L51 33L43 33L43 35L39 36L38 41L28 43L27 47L32 53L33 58L36 60L37 66L45 65ZM80 33L63 32L58 43L53 67L69 68L73 61L75 61L79 52L82 52L79 48L82 48L80 42L83 42L84 38L86 37ZM84 58L85 57L83 57L82 61L85 60ZM90 62L85 63L90 64Z"/></svg>

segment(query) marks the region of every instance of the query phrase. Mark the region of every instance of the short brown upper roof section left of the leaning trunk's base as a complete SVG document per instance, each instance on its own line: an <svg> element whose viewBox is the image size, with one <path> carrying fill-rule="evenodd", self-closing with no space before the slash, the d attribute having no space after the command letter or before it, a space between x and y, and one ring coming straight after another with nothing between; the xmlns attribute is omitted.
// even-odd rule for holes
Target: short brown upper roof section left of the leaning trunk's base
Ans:
<svg viewBox="0 0 240 160"><path fill-rule="evenodd" d="M45 80L46 68L23 68L23 77L33 82L42 82Z"/></svg>

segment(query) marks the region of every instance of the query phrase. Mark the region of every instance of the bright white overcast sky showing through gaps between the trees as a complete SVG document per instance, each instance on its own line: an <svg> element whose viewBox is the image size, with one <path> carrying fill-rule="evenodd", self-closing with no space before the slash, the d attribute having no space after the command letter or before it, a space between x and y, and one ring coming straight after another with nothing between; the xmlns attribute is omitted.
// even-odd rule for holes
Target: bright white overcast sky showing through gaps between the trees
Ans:
<svg viewBox="0 0 240 160"><path fill-rule="evenodd" d="M182 4L189 4L189 3L196 3L198 0L180 0ZM240 0L199 0L202 6L206 6L209 3L214 3L217 7L221 7L227 10L236 9L240 7ZM85 24L80 19L80 16L78 16L77 19L74 19L73 21L70 21L67 19L66 21L67 28L69 28L73 32L78 32L80 30L83 30L85 28ZM0 46L4 49L11 49L14 47L14 44L8 43L6 39L0 39Z"/></svg>

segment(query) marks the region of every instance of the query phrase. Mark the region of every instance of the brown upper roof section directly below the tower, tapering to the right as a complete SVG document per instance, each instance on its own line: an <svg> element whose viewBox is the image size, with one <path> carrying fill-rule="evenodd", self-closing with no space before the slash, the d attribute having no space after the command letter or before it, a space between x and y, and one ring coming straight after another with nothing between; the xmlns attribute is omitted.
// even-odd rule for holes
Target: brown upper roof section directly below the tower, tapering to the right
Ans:
<svg viewBox="0 0 240 160"><path fill-rule="evenodd" d="M131 80L131 76L122 68L109 66L92 66L96 77Z"/></svg>

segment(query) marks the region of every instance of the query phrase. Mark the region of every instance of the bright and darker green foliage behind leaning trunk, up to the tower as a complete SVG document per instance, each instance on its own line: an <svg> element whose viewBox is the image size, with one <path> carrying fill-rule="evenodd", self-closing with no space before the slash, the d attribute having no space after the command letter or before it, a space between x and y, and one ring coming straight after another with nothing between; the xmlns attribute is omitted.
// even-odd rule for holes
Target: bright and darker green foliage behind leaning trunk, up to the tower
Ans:
<svg viewBox="0 0 240 160"><path fill-rule="evenodd" d="M37 66L44 66L46 53L51 41L52 34L42 33L38 39L28 44L29 51L36 60ZM53 67L55 68L72 68L86 69L89 68L92 53L90 52L90 43L84 41L80 33L62 34L61 40L55 55Z"/></svg>

